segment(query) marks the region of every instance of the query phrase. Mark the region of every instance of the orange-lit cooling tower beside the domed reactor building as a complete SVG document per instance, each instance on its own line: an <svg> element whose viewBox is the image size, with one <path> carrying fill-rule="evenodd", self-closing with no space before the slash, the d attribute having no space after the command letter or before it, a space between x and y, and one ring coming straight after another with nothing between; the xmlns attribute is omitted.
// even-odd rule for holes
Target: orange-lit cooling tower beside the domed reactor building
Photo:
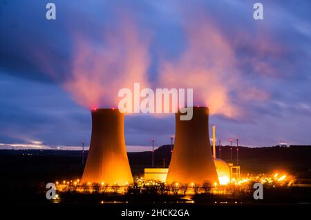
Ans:
<svg viewBox="0 0 311 220"><path fill-rule="evenodd" d="M167 183L196 183L210 181L219 183L209 143L208 116L206 107L194 107L191 120L180 120L176 113L176 138L173 148Z"/></svg>

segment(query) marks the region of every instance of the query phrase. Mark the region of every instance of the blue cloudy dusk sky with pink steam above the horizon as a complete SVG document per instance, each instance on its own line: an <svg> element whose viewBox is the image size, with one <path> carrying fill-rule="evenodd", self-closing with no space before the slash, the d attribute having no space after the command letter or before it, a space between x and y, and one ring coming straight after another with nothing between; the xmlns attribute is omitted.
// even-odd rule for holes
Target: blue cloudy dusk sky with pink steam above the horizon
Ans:
<svg viewBox="0 0 311 220"><path fill-rule="evenodd" d="M311 144L311 3L0 0L0 147L89 144L117 91L193 88L227 144ZM170 143L174 118L126 116L129 151ZM146 146L146 147L144 147ZM71 147L71 148L70 148Z"/></svg>

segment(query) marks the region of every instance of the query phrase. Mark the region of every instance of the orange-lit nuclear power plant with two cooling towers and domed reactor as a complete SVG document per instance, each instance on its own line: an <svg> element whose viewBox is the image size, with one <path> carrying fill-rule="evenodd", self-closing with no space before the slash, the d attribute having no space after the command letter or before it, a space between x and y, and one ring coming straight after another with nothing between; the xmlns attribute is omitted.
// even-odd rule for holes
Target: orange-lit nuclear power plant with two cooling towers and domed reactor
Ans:
<svg viewBox="0 0 311 220"><path fill-rule="evenodd" d="M180 120L181 114L175 114L176 137L169 169L145 168L145 178L198 185L205 181L225 185L237 178L239 167L216 158L216 127L211 151L209 109L194 107L191 120ZM91 115L91 145L81 183L133 183L124 139L124 113L117 109L93 109Z"/></svg>

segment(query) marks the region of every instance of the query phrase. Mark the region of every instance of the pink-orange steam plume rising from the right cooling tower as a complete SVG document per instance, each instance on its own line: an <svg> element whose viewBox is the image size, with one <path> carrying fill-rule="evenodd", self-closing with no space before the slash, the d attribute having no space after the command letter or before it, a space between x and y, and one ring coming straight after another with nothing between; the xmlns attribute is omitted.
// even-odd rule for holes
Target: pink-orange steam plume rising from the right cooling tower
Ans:
<svg viewBox="0 0 311 220"><path fill-rule="evenodd" d="M207 18L202 25L187 22L188 46L176 62L162 60L159 82L162 86L194 88L194 104L210 107L211 114L227 118L241 116L242 109L234 104L234 93L243 101L267 98L238 71L234 47Z"/></svg>

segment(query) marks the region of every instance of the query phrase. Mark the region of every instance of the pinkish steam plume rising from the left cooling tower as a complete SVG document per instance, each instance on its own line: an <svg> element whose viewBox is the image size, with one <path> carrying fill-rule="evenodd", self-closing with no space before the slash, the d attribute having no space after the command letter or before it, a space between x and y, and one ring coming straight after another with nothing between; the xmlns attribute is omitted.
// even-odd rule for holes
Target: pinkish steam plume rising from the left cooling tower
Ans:
<svg viewBox="0 0 311 220"><path fill-rule="evenodd" d="M122 19L113 33L96 46L77 37L71 77L64 83L74 100L85 107L117 107L117 93L134 82L148 86L148 40L138 35L131 19Z"/></svg>

